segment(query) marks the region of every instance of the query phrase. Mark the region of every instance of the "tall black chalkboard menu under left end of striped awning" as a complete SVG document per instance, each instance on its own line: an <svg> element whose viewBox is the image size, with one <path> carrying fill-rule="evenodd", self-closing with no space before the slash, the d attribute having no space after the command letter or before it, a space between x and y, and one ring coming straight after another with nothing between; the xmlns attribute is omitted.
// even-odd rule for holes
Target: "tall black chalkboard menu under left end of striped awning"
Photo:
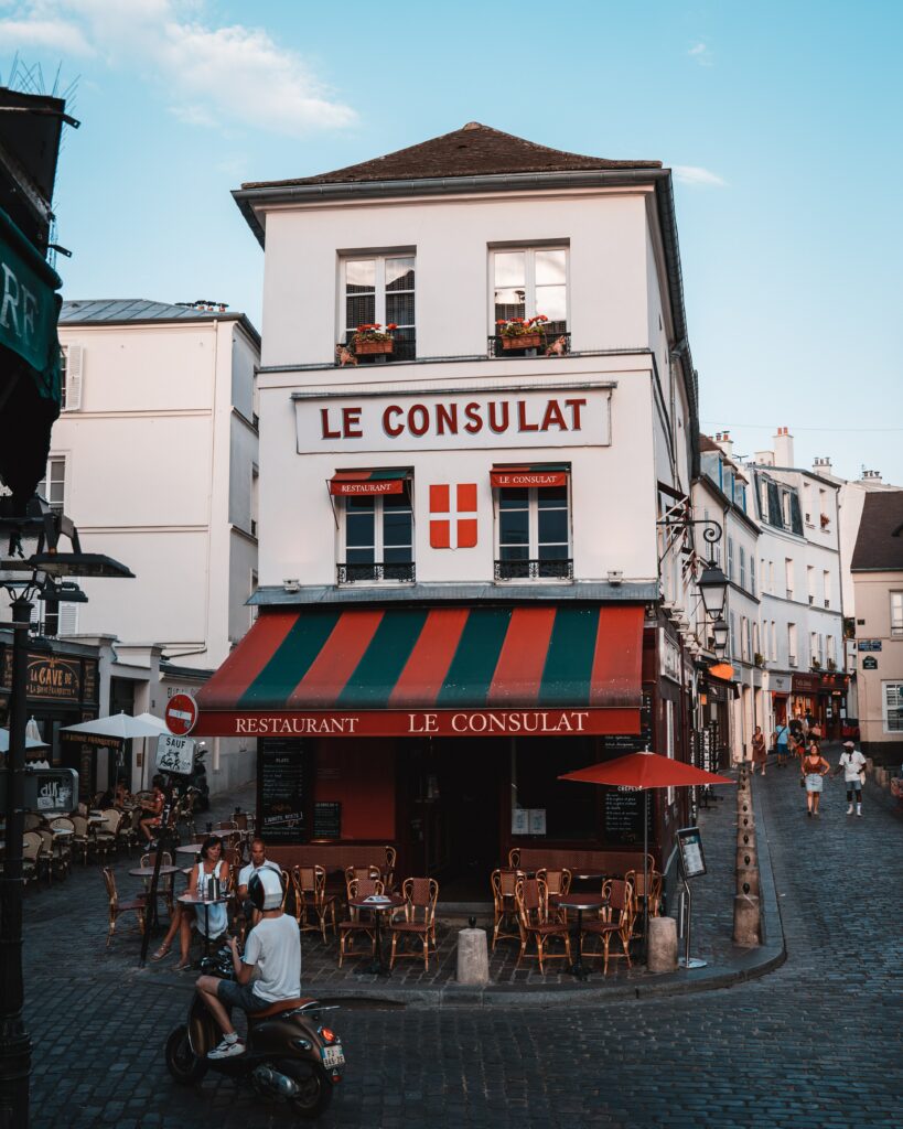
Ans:
<svg viewBox="0 0 903 1129"><path fill-rule="evenodd" d="M266 737L257 744L257 828L268 843L310 838L310 756L304 741Z"/></svg>

